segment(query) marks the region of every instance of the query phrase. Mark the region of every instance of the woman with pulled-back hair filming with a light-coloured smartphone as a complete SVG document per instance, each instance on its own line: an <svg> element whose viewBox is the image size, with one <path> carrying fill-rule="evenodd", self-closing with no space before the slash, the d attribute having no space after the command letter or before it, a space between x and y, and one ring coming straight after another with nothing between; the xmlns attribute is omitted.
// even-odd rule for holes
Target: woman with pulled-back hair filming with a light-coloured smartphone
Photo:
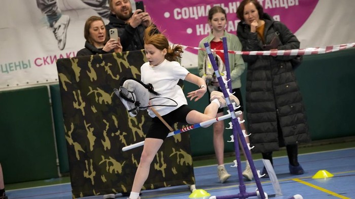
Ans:
<svg viewBox="0 0 355 199"><path fill-rule="evenodd" d="M107 39L106 36L105 24L102 18L97 16L89 17L84 26L85 48L81 49L77 56L122 52L120 37Z"/></svg>

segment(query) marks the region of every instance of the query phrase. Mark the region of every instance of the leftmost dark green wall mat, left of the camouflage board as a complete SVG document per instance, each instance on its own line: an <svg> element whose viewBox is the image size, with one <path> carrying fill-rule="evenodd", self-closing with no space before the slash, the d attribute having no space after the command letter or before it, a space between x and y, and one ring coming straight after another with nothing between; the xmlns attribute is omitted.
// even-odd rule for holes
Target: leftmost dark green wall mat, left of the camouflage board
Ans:
<svg viewBox="0 0 355 199"><path fill-rule="evenodd" d="M47 86L0 92L5 184L58 177Z"/></svg>

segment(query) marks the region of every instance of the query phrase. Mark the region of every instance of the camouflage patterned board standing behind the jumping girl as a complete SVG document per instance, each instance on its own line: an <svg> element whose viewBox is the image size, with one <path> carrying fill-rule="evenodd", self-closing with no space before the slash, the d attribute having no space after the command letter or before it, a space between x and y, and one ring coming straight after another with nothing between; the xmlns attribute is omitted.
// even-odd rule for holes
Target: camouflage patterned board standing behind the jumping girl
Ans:
<svg viewBox="0 0 355 199"><path fill-rule="evenodd" d="M125 76L140 79L145 59L134 51L57 61L74 198L131 190L143 147L122 147L143 141L151 118L130 117L113 90ZM183 184L195 184L188 133L164 141L144 189Z"/></svg>

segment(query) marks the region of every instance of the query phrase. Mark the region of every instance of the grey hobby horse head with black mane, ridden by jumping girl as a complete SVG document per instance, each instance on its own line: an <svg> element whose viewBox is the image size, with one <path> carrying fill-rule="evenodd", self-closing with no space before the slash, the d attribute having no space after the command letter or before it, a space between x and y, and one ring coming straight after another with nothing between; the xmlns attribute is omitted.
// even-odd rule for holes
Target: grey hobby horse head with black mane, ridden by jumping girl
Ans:
<svg viewBox="0 0 355 199"><path fill-rule="evenodd" d="M123 78L120 89L114 89L122 104L131 117L135 117L139 110L146 110L149 106L149 93L160 95L154 91L152 84L145 84L133 77Z"/></svg>

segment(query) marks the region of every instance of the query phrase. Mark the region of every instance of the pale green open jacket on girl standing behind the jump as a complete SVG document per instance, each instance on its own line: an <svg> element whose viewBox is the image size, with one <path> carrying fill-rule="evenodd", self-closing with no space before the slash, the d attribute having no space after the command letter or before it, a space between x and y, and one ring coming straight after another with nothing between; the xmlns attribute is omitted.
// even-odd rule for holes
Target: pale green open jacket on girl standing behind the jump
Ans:
<svg viewBox="0 0 355 199"><path fill-rule="evenodd" d="M227 47L229 51L241 51L242 46L241 43L238 39L238 37L234 34L224 32L224 36L227 37ZM203 38L198 47L204 48L203 43L208 42L210 44L211 40L215 36L212 35L212 33L209 33L209 35L205 38ZM199 76L203 76L203 62L204 62L204 57L206 55L206 51L199 50L198 51L198 73ZM236 54L228 54L228 59L229 59L229 67L231 70L231 79L232 79L232 88L240 88L241 87L241 82L240 82L240 76L244 72L245 65L243 58L241 55L236 55Z"/></svg>

